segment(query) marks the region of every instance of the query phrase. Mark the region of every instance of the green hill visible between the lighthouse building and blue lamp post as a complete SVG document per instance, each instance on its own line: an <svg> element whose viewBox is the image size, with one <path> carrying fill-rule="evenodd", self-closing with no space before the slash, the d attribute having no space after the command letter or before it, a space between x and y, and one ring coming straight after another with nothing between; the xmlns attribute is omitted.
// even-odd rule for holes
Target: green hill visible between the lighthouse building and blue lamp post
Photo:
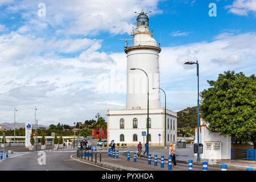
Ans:
<svg viewBox="0 0 256 182"><path fill-rule="evenodd" d="M194 129L197 126L197 106L188 107L187 109L177 112L177 127L190 127Z"/></svg>

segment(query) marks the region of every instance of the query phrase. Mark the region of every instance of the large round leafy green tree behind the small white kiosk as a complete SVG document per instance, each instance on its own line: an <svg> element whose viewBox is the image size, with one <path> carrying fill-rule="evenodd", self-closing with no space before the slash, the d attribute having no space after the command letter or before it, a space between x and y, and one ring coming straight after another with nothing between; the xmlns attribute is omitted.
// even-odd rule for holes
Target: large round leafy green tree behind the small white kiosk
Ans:
<svg viewBox="0 0 256 182"><path fill-rule="evenodd" d="M201 92L201 113L211 132L251 141L256 148L256 80L242 72L224 72Z"/></svg>

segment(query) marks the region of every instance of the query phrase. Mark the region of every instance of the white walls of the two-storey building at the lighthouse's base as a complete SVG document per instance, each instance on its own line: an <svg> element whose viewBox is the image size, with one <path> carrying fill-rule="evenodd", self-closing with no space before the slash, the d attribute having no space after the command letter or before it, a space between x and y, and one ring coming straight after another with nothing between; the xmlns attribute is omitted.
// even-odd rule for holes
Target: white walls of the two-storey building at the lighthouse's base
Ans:
<svg viewBox="0 0 256 182"><path fill-rule="evenodd" d="M149 117L151 119L151 128L149 129L149 134L151 134L151 142L150 144L159 145L159 136L158 134L161 134L160 136L160 145L163 146L164 143L164 113L158 112L156 114L156 111L163 111L164 109L155 109L150 110ZM154 114L152 114L154 113ZM169 112L173 113L173 112ZM138 144L138 142L143 143L143 137L142 137L142 131L146 131L147 133L147 127L146 127L146 118L147 114L145 110L110 110L109 111L109 117L108 117L108 142L110 143L111 140L114 139L115 143L127 143L127 144ZM128 115L131 114L131 115ZM134 115L133 115L134 114ZM136 115L135 115L136 114ZM125 128L120 129L120 119L123 118L125 120ZM133 129L133 119L138 119L138 128ZM177 118L172 117L170 115L167 115L167 118L169 118L169 121L175 123L175 130L173 129L172 124L172 130L166 129L167 134L172 134L172 142L173 142L173 136L175 135L175 140L177 139ZM168 121L168 119L167 119ZM166 125L167 127L168 125ZM123 134L125 136L125 141L120 141L120 135ZM138 141L133 141L133 134L137 134ZM144 137L144 141L146 142L146 137ZM171 143L171 140L166 139L167 143Z"/></svg>

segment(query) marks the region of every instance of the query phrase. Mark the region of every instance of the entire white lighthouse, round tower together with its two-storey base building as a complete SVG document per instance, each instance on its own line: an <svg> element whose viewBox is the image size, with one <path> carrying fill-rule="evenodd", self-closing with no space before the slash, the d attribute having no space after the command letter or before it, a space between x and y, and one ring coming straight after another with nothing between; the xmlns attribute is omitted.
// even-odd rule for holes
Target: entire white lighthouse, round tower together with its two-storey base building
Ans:
<svg viewBox="0 0 256 182"><path fill-rule="evenodd" d="M143 11L137 16L137 27L133 28L134 43L126 46L127 93L126 109L108 109L108 143L126 143L135 146L146 142L147 135L147 89L149 91L149 144L164 146L176 141L177 113L160 107L159 53L160 44L152 38L149 18ZM129 47L130 46L130 47ZM148 78L147 78L148 77ZM166 122L166 123L165 123ZM165 133L166 126L166 133ZM144 134L146 135L144 136Z"/></svg>

